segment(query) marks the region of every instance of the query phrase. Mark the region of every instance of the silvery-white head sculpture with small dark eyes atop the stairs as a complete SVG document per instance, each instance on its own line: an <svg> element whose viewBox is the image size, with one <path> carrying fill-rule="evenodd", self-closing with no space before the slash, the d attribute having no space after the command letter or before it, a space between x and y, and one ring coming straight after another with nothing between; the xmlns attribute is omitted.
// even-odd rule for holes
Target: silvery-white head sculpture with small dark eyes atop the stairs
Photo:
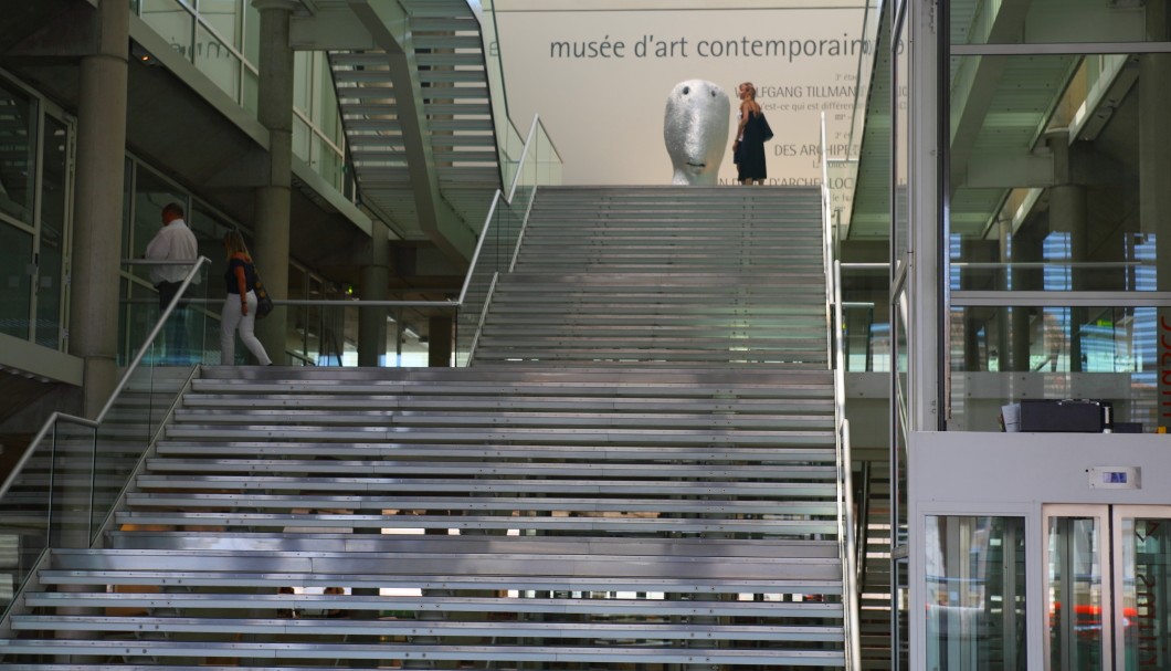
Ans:
<svg viewBox="0 0 1171 671"><path fill-rule="evenodd" d="M731 102L704 80L674 85L666 98L663 142L674 166L671 184L715 184L728 142Z"/></svg>

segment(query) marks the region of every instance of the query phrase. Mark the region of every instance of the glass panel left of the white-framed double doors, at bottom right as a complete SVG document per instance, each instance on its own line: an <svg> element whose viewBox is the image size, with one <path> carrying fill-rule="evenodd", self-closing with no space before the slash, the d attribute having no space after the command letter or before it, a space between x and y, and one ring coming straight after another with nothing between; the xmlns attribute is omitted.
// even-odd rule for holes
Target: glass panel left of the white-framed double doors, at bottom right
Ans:
<svg viewBox="0 0 1171 671"><path fill-rule="evenodd" d="M927 667L1023 670L1025 519L929 515Z"/></svg>

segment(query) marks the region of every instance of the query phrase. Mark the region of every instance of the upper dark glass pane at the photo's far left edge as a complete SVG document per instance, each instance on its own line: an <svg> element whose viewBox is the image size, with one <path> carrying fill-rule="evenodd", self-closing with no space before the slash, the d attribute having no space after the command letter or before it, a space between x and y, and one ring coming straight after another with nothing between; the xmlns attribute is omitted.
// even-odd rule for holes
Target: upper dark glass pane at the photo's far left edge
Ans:
<svg viewBox="0 0 1171 671"><path fill-rule="evenodd" d="M36 110L29 96L0 81L0 215L33 224Z"/></svg>

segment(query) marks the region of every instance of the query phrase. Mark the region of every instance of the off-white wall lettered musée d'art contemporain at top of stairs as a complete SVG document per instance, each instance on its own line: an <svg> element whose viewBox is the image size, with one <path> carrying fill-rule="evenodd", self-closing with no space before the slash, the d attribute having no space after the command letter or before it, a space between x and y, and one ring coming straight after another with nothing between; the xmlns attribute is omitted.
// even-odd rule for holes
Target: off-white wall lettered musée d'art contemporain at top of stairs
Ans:
<svg viewBox="0 0 1171 671"><path fill-rule="evenodd" d="M497 0L509 114L541 115L566 184L670 184L663 115L674 84L712 81L734 108L751 81L776 133L769 178L820 184L822 111L830 157L847 155L865 0L817 4ZM745 48L758 55L728 54ZM719 177L734 176L728 149Z"/></svg>

